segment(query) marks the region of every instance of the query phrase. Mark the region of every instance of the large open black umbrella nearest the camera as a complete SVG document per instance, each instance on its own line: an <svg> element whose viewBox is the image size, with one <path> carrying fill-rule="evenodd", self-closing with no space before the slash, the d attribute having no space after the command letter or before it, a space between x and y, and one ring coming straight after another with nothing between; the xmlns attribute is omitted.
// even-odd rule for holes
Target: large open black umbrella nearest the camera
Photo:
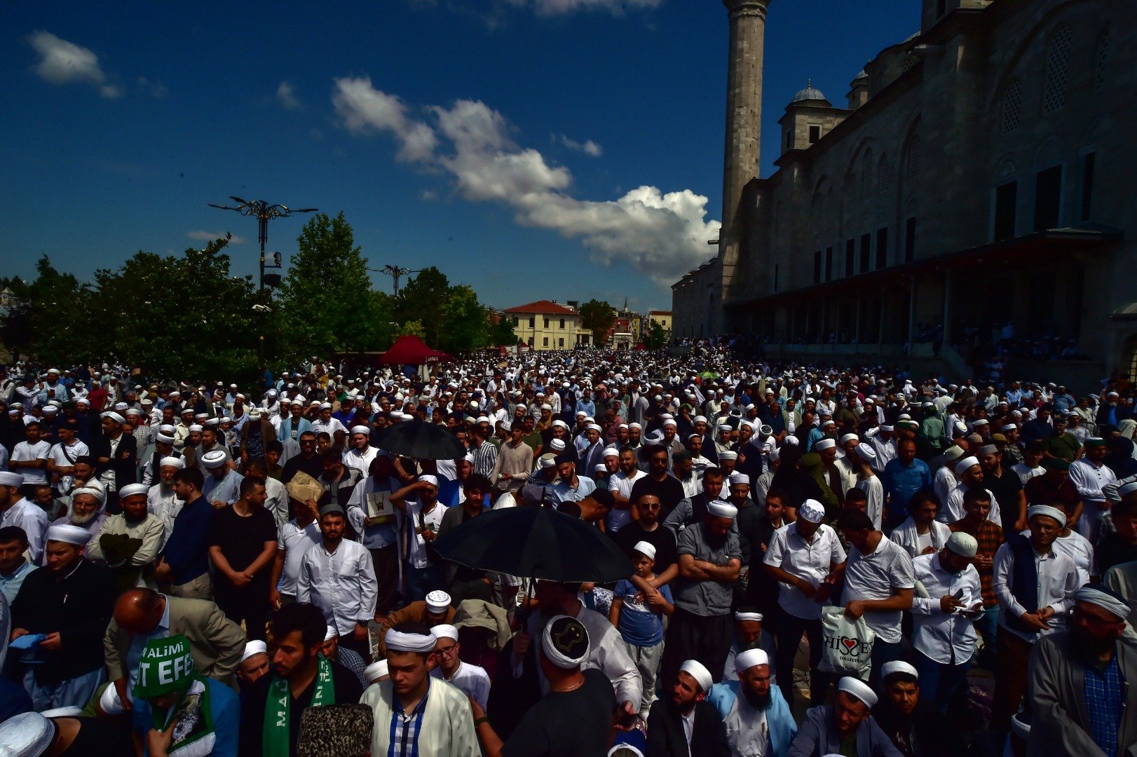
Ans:
<svg viewBox="0 0 1137 757"><path fill-rule="evenodd" d="M524 579L614 583L632 574L631 560L606 534L548 507L483 513L435 541L434 549L466 567Z"/></svg>

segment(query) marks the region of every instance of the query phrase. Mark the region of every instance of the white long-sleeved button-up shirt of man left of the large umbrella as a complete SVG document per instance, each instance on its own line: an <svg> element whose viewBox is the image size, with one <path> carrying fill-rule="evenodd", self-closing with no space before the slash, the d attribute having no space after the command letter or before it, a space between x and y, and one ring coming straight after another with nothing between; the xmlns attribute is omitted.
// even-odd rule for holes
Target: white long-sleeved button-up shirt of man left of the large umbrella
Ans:
<svg viewBox="0 0 1137 757"><path fill-rule="evenodd" d="M321 541L304 554L296 600L323 610L341 637L355 631L357 621L375 616L377 599L375 567L363 544L345 539L329 552Z"/></svg>

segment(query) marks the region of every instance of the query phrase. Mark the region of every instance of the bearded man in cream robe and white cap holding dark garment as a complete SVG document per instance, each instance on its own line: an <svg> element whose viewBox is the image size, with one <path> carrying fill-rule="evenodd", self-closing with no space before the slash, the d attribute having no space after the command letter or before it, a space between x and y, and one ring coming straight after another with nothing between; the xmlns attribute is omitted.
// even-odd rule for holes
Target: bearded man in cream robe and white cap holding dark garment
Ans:
<svg viewBox="0 0 1137 757"><path fill-rule="evenodd" d="M156 585L153 567L165 527L161 518L147 511L148 491L144 484L123 486L118 492L123 511L103 521L88 549L88 557L110 568L121 590Z"/></svg>

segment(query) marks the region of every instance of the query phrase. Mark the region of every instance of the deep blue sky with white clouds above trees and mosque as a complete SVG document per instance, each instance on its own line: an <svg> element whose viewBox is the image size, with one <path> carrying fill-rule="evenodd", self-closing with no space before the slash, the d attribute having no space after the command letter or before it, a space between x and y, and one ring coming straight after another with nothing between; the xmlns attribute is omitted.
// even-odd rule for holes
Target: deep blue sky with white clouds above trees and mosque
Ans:
<svg viewBox="0 0 1137 757"><path fill-rule="evenodd" d="M343 210L372 267L434 265L498 307L669 308L713 253L717 0L325 5L9 3L0 273L47 253L86 278L225 231L252 273L255 222L206 205L230 194ZM763 175L792 94L812 78L844 102L919 6L771 3ZM302 223L274 222L269 250L288 259Z"/></svg>

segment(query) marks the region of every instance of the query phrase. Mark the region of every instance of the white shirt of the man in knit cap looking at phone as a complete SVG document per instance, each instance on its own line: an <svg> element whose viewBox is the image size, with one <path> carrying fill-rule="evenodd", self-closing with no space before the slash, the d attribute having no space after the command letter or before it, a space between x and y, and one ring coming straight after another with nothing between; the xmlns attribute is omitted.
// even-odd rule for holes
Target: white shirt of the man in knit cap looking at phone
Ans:
<svg viewBox="0 0 1137 757"><path fill-rule="evenodd" d="M976 647L974 621L958 613L945 613L939 600L948 594L971 609L982 601L979 572L969 565L958 573L948 573L940 565L939 554L921 555L912 560L912 573L928 590L928 599L912 599L912 646L924 657L941 665L958 665L971 659Z"/></svg>

